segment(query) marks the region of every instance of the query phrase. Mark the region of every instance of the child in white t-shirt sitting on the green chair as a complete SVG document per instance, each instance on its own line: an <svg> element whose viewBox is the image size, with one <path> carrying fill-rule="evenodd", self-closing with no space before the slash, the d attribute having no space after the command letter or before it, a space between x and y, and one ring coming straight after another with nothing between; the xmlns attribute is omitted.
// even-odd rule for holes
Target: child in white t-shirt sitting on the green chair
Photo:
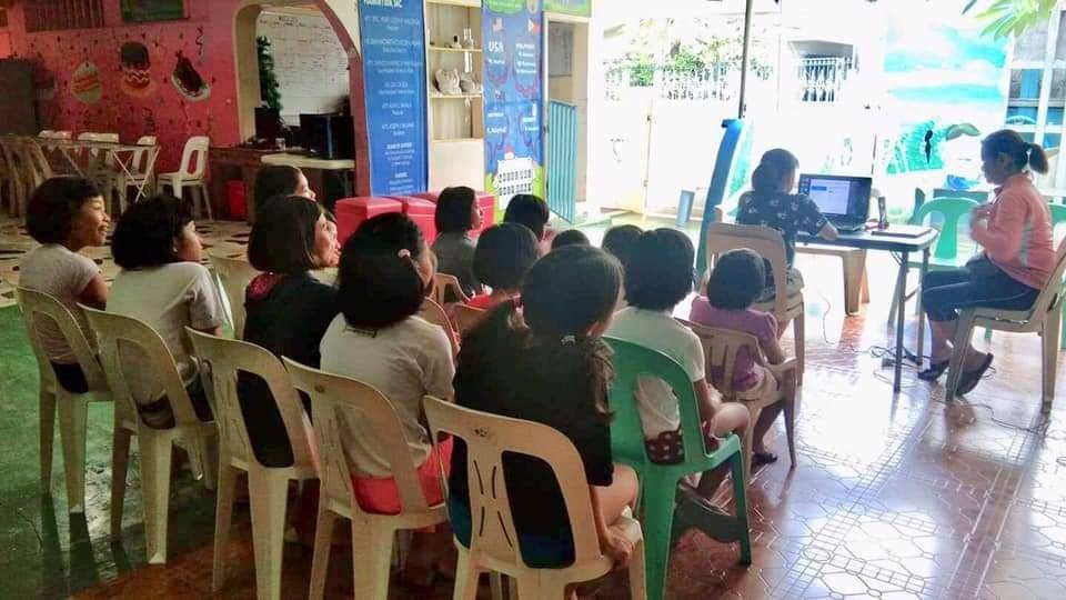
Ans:
<svg viewBox="0 0 1066 600"><path fill-rule="evenodd" d="M700 338L673 318L674 308L692 292L694 259L692 242L675 229L642 233L625 271L630 306L615 313L607 336L658 350L685 370L703 419L704 443L713 449L716 437L743 434L748 417L744 407L723 403L712 394ZM648 457L655 462L682 462L681 411L673 390L662 379L641 377L636 400ZM724 476L724 467L704 474L700 496L711 498Z"/></svg>

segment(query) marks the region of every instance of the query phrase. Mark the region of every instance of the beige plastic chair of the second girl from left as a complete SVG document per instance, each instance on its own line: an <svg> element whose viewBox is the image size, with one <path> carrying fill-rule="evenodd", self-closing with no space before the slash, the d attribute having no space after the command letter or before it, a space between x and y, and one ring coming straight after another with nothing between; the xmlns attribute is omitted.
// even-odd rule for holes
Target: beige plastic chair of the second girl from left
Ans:
<svg viewBox="0 0 1066 600"><path fill-rule="evenodd" d="M125 473L130 459L130 437L138 437L141 452L141 490L144 503L144 537L148 562L167 562L167 532L170 514L170 466L174 443L189 444L194 470L202 470L208 489L217 482L218 453L214 451L214 421L201 421L192 408L189 393L178 372L167 343L151 327L131 317L123 317L81 306L89 324L97 333L100 361L108 383L114 392L114 444L112 448L111 536L122 530L122 504L125 500ZM137 349L148 358L152 372L162 380L174 414L174 427L153 429L140 417L137 401L127 384L127 368L119 348ZM139 362L139 361L138 361ZM199 464L198 464L199 463Z"/></svg>

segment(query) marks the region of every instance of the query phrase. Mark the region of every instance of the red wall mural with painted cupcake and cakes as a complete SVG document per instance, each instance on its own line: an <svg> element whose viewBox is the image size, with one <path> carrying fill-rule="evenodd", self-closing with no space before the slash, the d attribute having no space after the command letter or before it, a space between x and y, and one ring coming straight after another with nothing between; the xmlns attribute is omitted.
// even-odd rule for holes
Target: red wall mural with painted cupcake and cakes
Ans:
<svg viewBox="0 0 1066 600"><path fill-rule="evenodd" d="M235 143L231 39L212 44L205 27L171 21L28 34L42 127L117 132L127 142L157 136L161 171L177 169L192 136ZM86 64L95 67L95 80Z"/></svg>

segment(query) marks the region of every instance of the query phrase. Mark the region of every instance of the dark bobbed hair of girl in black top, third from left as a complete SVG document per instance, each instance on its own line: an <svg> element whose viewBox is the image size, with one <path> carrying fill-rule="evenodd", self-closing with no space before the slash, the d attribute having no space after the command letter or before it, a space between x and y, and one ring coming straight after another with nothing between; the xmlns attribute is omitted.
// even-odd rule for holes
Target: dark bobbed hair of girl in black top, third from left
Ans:
<svg viewBox="0 0 1066 600"><path fill-rule="evenodd" d="M325 209L310 198L268 202L255 214L248 261L260 271L294 274L314 269L314 226Z"/></svg>

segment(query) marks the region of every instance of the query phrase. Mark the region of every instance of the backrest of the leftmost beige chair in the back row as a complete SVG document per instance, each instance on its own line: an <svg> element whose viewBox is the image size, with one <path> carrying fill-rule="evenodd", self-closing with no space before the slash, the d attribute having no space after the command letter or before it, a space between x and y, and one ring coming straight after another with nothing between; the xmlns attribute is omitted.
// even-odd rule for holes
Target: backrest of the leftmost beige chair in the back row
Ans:
<svg viewBox="0 0 1066 600"><path fill-rule="evenodd" d="M51 361L41 346L40 338L37 336L37 327L44 319L50 319L67 341L74 357L78 358L78 364L81 372L86 376L90 390L107 390L108 382L104 379L100 363L97 362L97 353L89 343L89 338L81 330L78 320L71 314L70 310L63 306L56 297L48 293L27 288L16 288L16 299L19 308L22 309L22 319L26 321L27 336L30 338L30 346L33 348L33 354L37 356L37 362L41 374L51 383L56 383L56 373L52 371Z"/></svg>

